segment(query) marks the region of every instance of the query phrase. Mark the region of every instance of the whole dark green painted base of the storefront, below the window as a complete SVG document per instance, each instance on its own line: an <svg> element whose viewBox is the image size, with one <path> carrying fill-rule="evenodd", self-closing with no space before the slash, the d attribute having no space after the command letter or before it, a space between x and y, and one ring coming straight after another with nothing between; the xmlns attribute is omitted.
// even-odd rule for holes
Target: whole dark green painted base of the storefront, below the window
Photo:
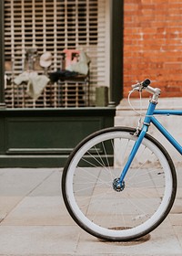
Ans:
<svg viewBox="0 0 182 256"><path fill-rule="evenodd" d="M86 135L114 125L115 112L0 109L0 167L62 167Z"/></svg>

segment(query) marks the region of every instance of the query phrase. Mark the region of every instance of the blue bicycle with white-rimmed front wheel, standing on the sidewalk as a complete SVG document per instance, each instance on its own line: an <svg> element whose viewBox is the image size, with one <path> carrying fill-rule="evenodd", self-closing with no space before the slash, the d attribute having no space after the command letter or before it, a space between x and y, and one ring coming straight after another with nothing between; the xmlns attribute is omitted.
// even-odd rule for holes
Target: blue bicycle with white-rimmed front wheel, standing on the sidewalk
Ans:
<svg viewBox="0 0 182 256"><path fill-rule="evenodd" d="M69 156L62 177L68 212L88 233L102 240L136 240L167 217L177 191L176 169L167 150L147 133L153 123L182 154L182 146L154 115L160 90L150 80L132 91L152 94L141 129L107 128L86 137Z"/></svg>

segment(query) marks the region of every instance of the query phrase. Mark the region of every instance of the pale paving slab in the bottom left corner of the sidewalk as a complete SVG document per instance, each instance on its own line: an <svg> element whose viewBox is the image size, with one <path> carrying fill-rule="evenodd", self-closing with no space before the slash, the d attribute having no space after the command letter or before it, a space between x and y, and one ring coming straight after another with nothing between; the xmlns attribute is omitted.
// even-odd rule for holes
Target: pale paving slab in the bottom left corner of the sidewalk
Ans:
<svg viewBox="0 0 182 256"><path fill-rule="evenodd" d="M71 254L76 251L77 227L2 226L0 253L5 255Z"/></svg>

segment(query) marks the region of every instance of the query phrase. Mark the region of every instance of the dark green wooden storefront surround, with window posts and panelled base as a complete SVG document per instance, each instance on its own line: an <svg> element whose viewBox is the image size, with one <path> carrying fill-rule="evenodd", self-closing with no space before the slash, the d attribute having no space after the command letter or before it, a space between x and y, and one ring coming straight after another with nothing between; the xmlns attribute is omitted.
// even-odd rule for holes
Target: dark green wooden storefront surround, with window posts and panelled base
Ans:
<svg viewBox="0 0 182 256"><path fill-rule="evenodd" d="M57 167L86 135L114 125L122 97L123 1L110 1L110 99L103 108L7 109L4 91L4 1L0 2L0 166Z"/></svg>

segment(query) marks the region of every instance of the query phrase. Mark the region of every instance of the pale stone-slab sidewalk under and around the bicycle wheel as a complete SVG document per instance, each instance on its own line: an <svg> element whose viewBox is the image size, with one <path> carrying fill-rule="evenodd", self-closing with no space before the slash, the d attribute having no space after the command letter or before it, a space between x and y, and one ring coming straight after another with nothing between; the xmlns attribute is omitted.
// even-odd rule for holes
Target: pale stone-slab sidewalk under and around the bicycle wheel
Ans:
<svg viewBox="0 0 182 256"><path fill-rule="evenodd" d="M61 169L0 169L0 256L182 255L182 169L170 215L149 240L106 242L76 226L60 192Z"/></svg>

